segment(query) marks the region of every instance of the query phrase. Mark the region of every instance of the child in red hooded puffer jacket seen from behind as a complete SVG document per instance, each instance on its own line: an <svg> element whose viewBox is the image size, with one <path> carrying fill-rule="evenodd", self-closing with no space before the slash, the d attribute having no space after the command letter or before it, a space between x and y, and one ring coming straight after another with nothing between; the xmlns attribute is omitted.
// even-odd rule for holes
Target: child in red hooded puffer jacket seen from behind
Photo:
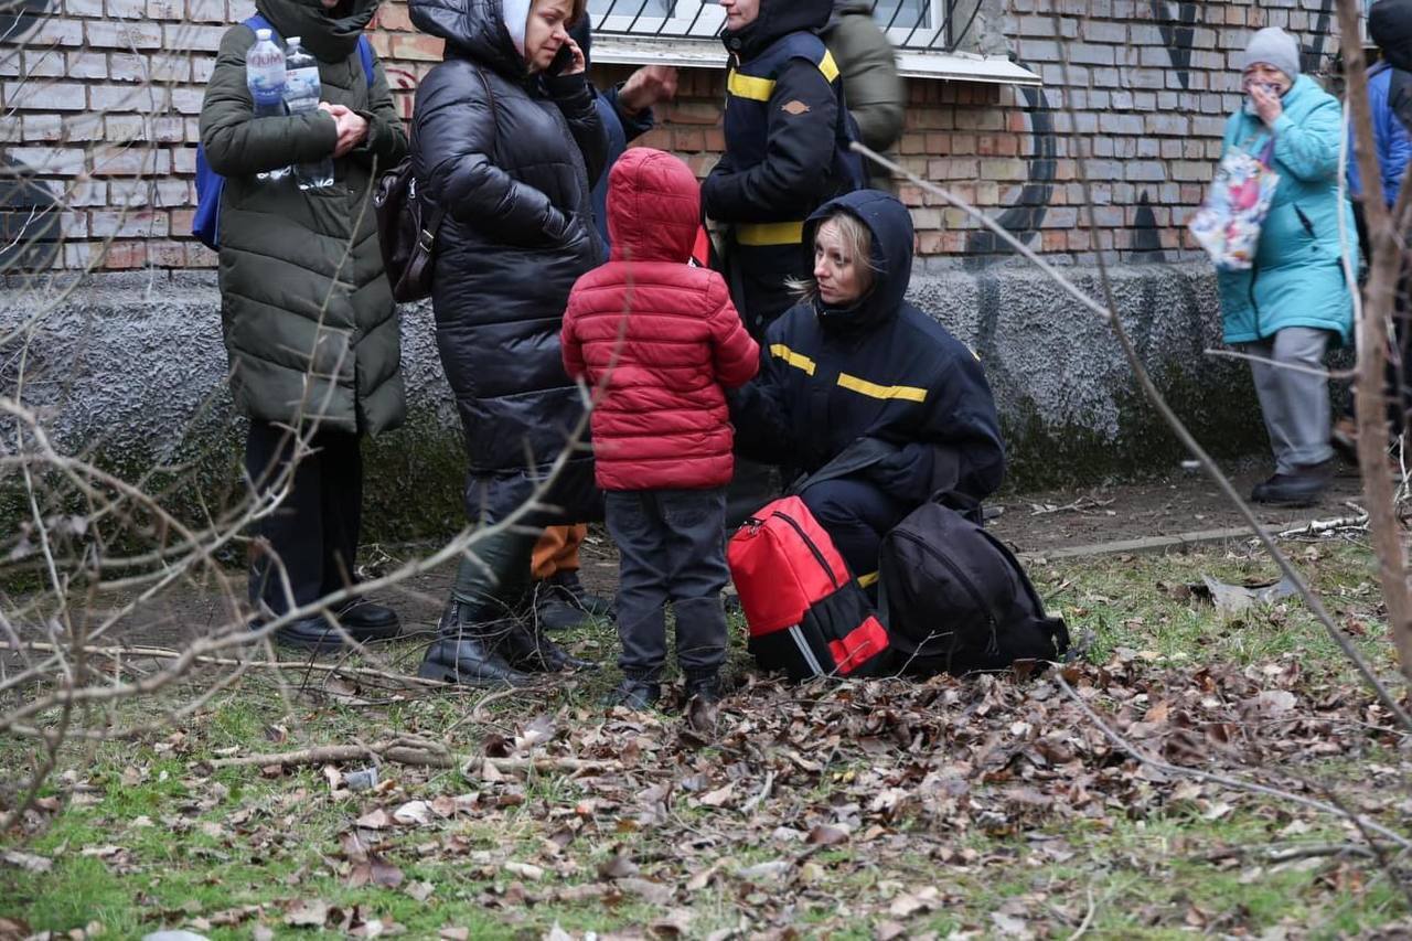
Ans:
<svg viewBox="0 0 1412 941"><path fill-rule="evenodd" d="M696 177L638 147L609 175L613 254L573 285L563 366L596 390L593 449L621 554L623 682L609 705L661 692L666 602L688 697L720 698L726 660L726 485L734 469L723 386L750 381L760 348L722 277L688 260L700 225Z"/></svg>

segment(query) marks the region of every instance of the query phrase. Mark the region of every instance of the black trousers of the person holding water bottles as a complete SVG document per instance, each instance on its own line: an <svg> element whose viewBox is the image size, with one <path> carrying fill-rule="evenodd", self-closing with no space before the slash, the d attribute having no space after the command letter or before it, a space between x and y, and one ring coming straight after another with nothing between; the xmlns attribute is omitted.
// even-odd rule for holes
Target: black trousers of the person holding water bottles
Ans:
<svg viewBox="0 0 1412 941"><path fill-rule="evenodd" d="M246 472L258 493L282 480L292 445L291 432L250 420ZM363 516L359 437L319 431L311 448L294 469L284 503L256 528L268 545L250 565L250 603L258 608L263 602L275 615L289 610L289 595L295 606L304 606L354 581Z"/></svg>

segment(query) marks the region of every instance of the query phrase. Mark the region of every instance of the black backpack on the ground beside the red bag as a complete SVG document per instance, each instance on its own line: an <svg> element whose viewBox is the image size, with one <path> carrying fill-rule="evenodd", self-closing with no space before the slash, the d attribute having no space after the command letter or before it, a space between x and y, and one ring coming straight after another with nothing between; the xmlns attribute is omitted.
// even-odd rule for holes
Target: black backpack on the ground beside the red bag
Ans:
<svg viewBox="0 0 1412 941"><path fill-rule="evenodd" d="M939 503L914 510L882 538L880 599L899 673L1004 670L1069 649L1062 617L1019 561L979 523Z"/></svg>

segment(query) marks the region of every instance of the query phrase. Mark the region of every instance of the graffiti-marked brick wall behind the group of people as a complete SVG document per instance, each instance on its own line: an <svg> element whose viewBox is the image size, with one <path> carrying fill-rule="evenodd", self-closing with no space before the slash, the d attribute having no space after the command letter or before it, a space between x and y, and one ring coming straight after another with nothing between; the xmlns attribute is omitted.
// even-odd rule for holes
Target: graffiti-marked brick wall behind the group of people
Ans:
<svg viewBox="0 0 1412 941"><path fill-rule="evenodd" d="M1233 54L1250 30L1279 25L1323 69L1336 51L1332 0L1171 3L1004 0L1012 57L1043 78L1038 90L909 79L898 146L914 172L997 215L1034 247L1083 261L1176 259L1182 225L1238 106ZM234 0L27 0L0 17L0 249L66 268L209 267L189 236L196 119ZM1200 11L1200 13L1197 13ZM378 14L374 47L404 116L439 61L404 3ZM1067 54L1069 79L1060 71ZM600 68L596 81L628 69ZM642 143L678 151L705 174L722 148L723 73L683 71L675 105ZM1067 97L1067 103L1065 102ZM1065 107L1075 109L1070 117ZM1101 230L1079 226L1076 157L1089 155ZM914 187L919 250L932 264L997 257L991 236ZM27 233L27 235L21 235ZM40 233L38 244L32 236ZM16 244L11 244L16 243Z"/></svg>

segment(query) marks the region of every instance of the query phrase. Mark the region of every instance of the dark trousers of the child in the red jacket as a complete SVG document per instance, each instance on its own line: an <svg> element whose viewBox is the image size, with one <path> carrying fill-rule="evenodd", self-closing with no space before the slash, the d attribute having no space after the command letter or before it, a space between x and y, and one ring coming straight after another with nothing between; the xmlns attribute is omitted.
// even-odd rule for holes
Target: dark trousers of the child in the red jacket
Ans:
<svg viewBox="0 0 1412 941"><path fill-rule="evenodd" d="M666 602L676 613L676 663L713 677L726 660L726 492L610 490L607 524L621 555L623 674L657 682L666 661Z"/></svg>

